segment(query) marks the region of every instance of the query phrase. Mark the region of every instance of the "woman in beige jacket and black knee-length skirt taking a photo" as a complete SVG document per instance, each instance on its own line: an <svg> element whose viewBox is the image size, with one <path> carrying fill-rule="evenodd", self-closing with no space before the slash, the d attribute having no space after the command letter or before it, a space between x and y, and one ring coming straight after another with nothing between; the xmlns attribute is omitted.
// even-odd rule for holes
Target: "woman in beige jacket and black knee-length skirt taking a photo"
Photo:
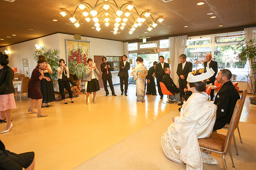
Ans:
<svg viewBox="0 0 256 170"><path fill-rule="evenodd" d="M85 67L85 74L87 75L86 80L87 82L87 88L86 88L86 104L88 105L88 97L91 92L93 92L93 103L95 102L95 97L96 97L96 91L100 90L100 84L99 84L99 78L97 74L100 72L96 68L95 63L93 63L92 59L87 60L88 66Z"/></svg>

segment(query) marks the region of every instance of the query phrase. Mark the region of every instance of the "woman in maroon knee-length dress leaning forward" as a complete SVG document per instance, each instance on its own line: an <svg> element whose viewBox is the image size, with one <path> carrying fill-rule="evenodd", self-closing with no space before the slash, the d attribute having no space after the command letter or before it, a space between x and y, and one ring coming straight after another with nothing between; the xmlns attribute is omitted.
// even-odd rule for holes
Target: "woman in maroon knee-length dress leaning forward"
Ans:
<svg viewBox="0 0 256 170"><path fill-rule="evenodd" d="M37 61L37 64L38 65L33 70L31 74L31 78L28 82L28 97L31 98L28 112L37 113L37 117L46 117L47 115L43 114L41 110L43 96L40 92L39 83L42 80L42 78L46 79L47 81L51 81L51 79L43 76L44 75L43 69L45 68L46 61L44 59L40 59ZM37 112L35 112L33 109L36 99L37 99L37 109L38 109Z"/></svg>

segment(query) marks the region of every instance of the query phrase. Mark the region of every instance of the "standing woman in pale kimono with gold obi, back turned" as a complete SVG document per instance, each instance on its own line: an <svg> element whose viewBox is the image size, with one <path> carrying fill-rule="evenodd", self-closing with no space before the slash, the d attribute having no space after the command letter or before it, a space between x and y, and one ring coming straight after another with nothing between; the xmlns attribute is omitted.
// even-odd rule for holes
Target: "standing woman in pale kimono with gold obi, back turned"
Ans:
<svg viewBox="0 0 256 170"><path fill-rule="evenodd" d="M136 59L138 65L132 67L132 73L130 74L133 77L133 80L136 80L136 94L137 102L142 103L145 97L145 82L147 76L146 66L143 64L143 58L138 57Z"/></svg>

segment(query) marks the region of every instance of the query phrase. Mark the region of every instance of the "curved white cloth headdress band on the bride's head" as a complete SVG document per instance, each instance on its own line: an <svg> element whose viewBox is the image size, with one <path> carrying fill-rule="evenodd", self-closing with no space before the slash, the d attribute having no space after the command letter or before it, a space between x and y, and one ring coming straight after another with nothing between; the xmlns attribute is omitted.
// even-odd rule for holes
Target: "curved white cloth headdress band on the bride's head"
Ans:
<svg viewBox="0 0 256 170"><path fill-rule="evenodd" d="M198 81L206 80L214 75L214 71L212 68L206 67L206 73L202 73L200 75L193 75L192 72L188 73L187 82L194 83Z"/></svg>

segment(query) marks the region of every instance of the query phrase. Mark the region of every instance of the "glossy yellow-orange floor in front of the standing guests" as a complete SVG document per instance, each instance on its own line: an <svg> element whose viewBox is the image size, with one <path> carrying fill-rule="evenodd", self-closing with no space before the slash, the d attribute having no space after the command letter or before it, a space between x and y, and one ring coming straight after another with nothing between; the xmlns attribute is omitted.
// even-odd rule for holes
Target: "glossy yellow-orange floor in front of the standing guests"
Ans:
<svg viewBox="0 0 256 170"><path fill-rule="evenodd" d="M12 110L13 130L0 134L0 139L15 153L34 151L36 170L69 170L179 108L177 103L163 104L160 96L146 96L144 103L136 103L135 86L129 86L128 96L120 95L119 86L114 88L117 96L108 97L101 88L96 104L92 95L89 105L85 95L74 98L74 103L68 99L68 105L52 102L42 109L45 118L27 112L30 103L23 94L23 102L17 101L17 109ZM240 121L255 124L256 108L248 104L249 96ZM4 127L0 124L0 129Z"/></svg>

